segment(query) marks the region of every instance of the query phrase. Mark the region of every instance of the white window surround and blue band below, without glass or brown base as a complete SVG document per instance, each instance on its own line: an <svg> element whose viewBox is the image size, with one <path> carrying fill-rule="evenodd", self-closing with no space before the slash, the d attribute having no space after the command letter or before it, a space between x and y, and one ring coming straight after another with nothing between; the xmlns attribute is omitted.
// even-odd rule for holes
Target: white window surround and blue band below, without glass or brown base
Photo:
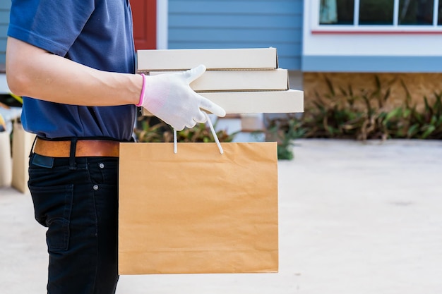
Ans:
<svg viewBox="0 0 442 294"><path fill-rule="evenodd" d="M326 27L318 11L319 0L304 1L302 71L442 72L442 26Z"/></svg>

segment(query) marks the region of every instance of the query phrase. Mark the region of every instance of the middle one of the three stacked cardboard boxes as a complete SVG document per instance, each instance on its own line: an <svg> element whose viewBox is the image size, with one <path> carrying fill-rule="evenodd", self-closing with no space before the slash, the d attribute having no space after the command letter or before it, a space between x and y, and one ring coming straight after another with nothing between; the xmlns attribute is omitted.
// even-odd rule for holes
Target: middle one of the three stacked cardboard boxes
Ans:
<svg viewBox="0 0 442 294"><path fill-rule="evenodd" d="M170 73L170 71L153 71L149 74L162 73ZM191 88L196 92L288 90L288 80L288 71L282 68L256 71L205 71L200 78L191 82Z"/></svg>

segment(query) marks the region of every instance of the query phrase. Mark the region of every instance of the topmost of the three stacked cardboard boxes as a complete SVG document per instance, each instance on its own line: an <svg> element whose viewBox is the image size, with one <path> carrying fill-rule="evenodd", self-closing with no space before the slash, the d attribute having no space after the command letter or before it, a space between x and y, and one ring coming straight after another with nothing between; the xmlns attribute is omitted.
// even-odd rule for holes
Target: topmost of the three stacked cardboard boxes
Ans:
<svg viewBox="0 0 442 294"><path fill-rule="evenodd" d="M138 50L138 71L277 68L276 48Z"/></svg>

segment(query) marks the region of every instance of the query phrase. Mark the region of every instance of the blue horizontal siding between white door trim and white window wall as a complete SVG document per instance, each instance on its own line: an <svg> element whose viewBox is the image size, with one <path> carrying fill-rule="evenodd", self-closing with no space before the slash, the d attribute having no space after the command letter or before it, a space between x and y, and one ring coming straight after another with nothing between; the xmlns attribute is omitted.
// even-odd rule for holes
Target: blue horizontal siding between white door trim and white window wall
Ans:
<svg viewBox="0 0 442 294"><path fill-rule="evenodd" d="M302 0L169 0L169 49L277 48L301 69Z"/></svg>

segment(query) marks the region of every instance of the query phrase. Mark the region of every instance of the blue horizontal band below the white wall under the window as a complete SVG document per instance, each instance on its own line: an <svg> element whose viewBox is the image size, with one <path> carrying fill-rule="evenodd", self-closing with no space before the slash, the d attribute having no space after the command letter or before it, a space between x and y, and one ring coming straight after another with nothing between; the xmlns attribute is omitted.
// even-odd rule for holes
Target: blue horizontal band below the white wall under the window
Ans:
<svg viewBox="0 0 442 294"><path fill-rule="evenodd" d="M442 56L303 56L304 72L440 73Z"/></svg>

